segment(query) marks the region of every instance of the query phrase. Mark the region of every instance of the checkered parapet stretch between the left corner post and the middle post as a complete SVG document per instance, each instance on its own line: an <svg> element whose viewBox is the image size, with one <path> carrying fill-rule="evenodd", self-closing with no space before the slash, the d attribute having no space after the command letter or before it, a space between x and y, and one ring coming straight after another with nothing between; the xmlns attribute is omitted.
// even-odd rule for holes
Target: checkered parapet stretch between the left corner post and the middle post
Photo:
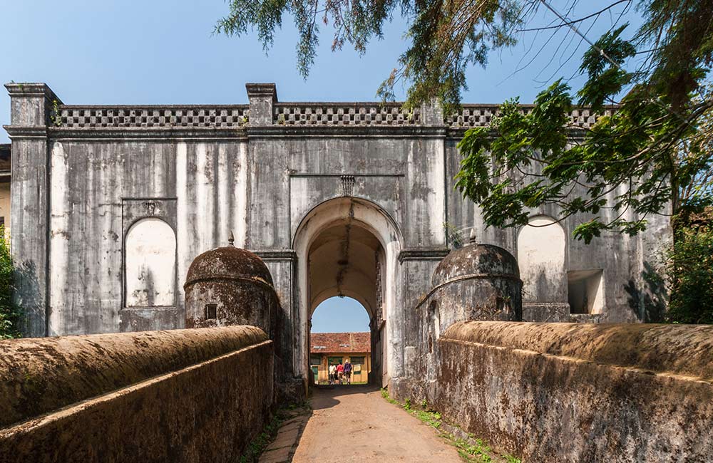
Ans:
<svg viewBox="0 0 713 463"><path fill-rule="evenodd" d="M239 128L248 105L215 106L61 106L65 128Z"/></svg>

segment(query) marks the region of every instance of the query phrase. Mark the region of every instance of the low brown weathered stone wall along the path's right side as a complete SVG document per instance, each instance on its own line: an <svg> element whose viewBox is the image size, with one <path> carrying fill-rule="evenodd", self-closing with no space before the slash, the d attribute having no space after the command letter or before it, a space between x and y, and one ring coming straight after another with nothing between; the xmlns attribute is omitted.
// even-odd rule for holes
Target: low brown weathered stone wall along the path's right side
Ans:
<svg viewBox="0 0 713 463"><path fill-rule="evenodd" d="M704 462L713 326L456 323L429 403L528 462Z"/></svg>

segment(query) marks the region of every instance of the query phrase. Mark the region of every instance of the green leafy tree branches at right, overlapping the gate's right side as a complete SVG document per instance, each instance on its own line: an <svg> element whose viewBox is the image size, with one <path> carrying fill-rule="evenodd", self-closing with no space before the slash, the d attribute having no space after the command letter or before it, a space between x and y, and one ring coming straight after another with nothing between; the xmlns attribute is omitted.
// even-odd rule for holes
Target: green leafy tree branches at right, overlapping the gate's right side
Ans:
<svg viewBox="0 0 713 463"><path fill-rule="evenodd" d="M583 56L576 103L599 113L593 127L576 133L574 97L558 80L527 114L511 100L490 128L466 132L457 187L481 204L487 224L516 227L554 206L590 242L712 202L713 1L639 6L646 22L632 38L623 38L626 24L612 28ZM627 70L640 54L642 64Z"/></svg>

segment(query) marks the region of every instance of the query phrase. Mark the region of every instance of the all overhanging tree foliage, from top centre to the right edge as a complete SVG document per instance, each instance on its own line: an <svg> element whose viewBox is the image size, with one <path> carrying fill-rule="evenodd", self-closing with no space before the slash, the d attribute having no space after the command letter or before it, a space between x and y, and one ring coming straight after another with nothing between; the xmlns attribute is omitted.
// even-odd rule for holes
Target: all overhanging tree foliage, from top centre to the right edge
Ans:
<svg viewBox="0 0 713 463"><path fill-rule="evenodd" d="M545 29L580 33L583 21L615 6L636 6L643 24L628 31L612 21L584 54L587 81L575 95L557 80L527 114L508 101L491 128L468 131L459 145L457 186L483 207L486 224L519 226L531 210L553 205L560 219L580 222L576 238L590 241L602 231L636 234L651 214L675 216L711 201L713 93L704 82L713 61L713 0L610 0L579 19L545 0L230 0L216 30L240 36L256 29L267 50L283 16L293 16L298 67L307 76L321 26L333 29L333 50L348 43L364 53L401 14L409 48L379 94L391 99L394 85L406 82L407 106L437 98L449 111L469 66L485 66L488 53L515 44L538 11L556 19ZM575 104L603 116L573 138L568 113Z"/></svg>

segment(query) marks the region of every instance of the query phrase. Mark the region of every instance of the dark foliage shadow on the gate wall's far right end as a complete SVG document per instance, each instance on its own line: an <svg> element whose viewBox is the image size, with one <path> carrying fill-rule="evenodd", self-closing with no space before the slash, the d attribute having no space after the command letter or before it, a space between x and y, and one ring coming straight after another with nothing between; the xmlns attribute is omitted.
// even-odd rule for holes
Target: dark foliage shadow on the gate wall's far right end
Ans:
<svg viewBox="0 0 713 463"><path fill-rule="evenodd" d="M629 294L629 308L640 321L662 323L667 306L665 281L648 262L644 262L641 276L644 287L638 288L633 279L624 285L624 290Z"/></svg>

